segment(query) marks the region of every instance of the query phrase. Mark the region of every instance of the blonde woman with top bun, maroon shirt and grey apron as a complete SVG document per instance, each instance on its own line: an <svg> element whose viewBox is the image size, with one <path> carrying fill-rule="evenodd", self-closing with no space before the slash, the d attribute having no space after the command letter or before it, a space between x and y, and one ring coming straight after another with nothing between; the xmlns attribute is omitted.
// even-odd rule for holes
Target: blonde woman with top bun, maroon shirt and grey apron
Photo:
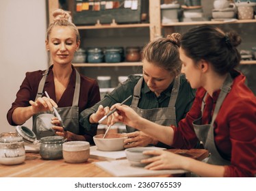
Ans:
<svg viewBox="0 0 256 191"><path fill-rule="evenodd" d="M68 141L93 143L92 137L97 128L87 131L79 126L79 113L99 102L99 86L96 80L80 75L72 65L80 37L69 14L64 10L55 10L53 17L45 40L52 65L47 70L26 73L7 118L12 126L18 126L33 117L33 131L38 139L57 134ZM50 98L47 98L45 91ZM60 123L57 118L52 121L53 131L45 130L41 114L52 113L53 106L60 113L65 130L57 126Z"/></svg>

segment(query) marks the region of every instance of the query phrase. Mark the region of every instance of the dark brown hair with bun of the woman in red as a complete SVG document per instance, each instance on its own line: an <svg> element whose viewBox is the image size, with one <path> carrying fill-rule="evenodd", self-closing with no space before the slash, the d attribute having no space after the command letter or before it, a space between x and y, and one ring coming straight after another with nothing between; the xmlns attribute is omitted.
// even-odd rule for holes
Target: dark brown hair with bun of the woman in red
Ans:
<svg viewBox="0 0 256 191"><path fill-rule="evenodd" d="M194 27L181 38L181 48L195 64L204 59L220 75L239 65L241 56L236 47L240 43L240 35L235 31L225 33L212 25Z"/></svg>

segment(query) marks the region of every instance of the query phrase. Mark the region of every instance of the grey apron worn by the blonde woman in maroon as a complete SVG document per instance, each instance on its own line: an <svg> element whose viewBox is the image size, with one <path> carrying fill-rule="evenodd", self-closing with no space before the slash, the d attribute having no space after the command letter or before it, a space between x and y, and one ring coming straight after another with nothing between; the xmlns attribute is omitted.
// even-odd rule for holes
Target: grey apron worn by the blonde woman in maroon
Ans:
<svg viewBox="0 0 256 191"><path fill-rule="evenodd" d="M47 79L48 70L46 70L42 76L42 79L40 80L40 83L38 85L38 93L36 95L36 99L39 97L42 97L43 89L44 89L44 83ZM75 70L75 92L73 97L73 104L72 106L68 107L62 107L57 108L57 112L60 114L60 117L62 117L62 121L64 123L64 126L66 127L66 130L73 132L74 134L79 134L79 91L80 91L80 74ZM51 111L47 111L44 113L51 113ZM39 140L41 137L44 136L53 136L55 133L51 130L42 131L42 128L40 128L40 114L38 113L33 116L33 132L36 134L36 138Z"/></svg>

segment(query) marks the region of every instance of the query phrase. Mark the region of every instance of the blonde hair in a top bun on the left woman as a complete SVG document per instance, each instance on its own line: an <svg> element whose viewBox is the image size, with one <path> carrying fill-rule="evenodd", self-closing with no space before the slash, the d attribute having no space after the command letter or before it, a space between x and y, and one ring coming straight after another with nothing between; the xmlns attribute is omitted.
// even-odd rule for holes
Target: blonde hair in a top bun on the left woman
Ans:
<svg viewBox="0 0 256 191"><path fill-rule="evenodd" d="M51 23L47 29L47 40L49 40L49 35L51 34L51 30L54 26L71 27L75 31L75 35L77 36L77 42L80 40L79 31L74 23L72 23L71 16L70 14L68 14L68 12L60 9L53 12L53 23Z"/></svg>

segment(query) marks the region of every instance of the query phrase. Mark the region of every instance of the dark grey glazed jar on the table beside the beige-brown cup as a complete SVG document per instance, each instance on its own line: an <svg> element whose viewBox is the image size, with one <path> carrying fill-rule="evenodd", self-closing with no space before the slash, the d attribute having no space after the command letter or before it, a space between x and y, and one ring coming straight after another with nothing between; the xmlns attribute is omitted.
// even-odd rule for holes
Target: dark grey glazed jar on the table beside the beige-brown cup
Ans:
<svg viewBox="0 0 256 191"><path fill-rule="evenodd" d="M40 138L40 156L46 160L55 160L63 158L62 145L63 136L45 136Z"/></svg>

